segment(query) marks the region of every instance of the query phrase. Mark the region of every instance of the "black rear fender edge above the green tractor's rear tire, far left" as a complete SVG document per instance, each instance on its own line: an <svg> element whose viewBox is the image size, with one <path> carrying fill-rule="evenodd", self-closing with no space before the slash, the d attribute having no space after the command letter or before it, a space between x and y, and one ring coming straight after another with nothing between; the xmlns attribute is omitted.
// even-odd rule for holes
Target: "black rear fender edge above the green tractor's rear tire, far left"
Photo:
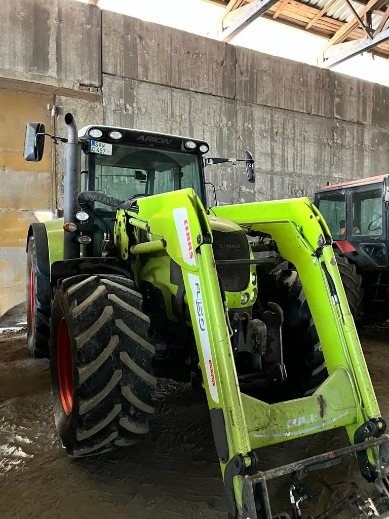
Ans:
<svg viewBox="0 0 389 519"><path fill-rule="evenodd" d="M37 299L42 305L49 305L51 302L51 285L50 285L50 260L49 247L47 240L46 227L43 223L33 223L30 225L27 234L26 252L29 239L34 236L36 263L37 263Z"/></svg>

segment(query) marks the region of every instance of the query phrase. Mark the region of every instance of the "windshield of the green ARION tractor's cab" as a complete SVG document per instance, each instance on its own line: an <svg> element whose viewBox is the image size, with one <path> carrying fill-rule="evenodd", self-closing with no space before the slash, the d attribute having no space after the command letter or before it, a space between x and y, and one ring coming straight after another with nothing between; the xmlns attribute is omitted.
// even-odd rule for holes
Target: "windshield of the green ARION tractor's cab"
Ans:
<svg viewBox="0 0 389 519"><path fill-rule="evenodd" d="M93 154L91 189L129 200L192 187L202 198L198 155L120 144L112 148L110 156ZM106 209L100 203L95 208Z"/></svg>

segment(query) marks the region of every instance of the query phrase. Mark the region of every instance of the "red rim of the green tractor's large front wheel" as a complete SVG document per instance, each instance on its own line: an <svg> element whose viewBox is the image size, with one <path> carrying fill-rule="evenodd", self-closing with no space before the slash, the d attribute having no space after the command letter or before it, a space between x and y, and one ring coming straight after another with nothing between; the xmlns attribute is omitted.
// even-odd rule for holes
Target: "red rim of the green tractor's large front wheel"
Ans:
<svg viewBox="0 0 389 519"><path fill-rule="evenodd" d="M57 370L61 403L65 414L70 415L73 407L73 360L66 319L58 326Z"/></svg>

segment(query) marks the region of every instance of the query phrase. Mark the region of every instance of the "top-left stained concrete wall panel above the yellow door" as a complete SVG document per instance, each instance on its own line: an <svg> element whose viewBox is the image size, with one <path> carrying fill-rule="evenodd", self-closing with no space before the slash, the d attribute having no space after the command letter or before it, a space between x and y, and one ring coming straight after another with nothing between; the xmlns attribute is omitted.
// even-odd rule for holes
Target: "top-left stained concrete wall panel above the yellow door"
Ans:
<svg viewBox="0 0 389 519"><path fill-rule="evenodd" d="M0 77L101 86L101 11L69 0L0 0Z"/></svg>

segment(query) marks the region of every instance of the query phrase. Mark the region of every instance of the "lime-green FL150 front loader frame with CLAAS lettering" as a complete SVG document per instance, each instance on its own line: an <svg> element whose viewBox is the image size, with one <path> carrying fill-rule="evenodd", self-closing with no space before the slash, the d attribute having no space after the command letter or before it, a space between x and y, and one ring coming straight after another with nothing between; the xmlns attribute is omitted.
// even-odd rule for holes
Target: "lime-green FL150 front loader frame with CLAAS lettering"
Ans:
<svg viewBox="0 0 389 519"><path fill-rule="evenodd" d="M166 209L169 207L173 209ZM253 452L265 445L345 427L352 444L347 454L358 451L359 469L365 479L386 477L389 456L384 454L389 449L383 436L385 422L343 290L329 229L309 199L210 210L239 224L246 233L270 234L280 254L296 266L301 278L329 376L311 396L275 404L240 391L212 231L195 192L183 189L138 199L136 212L126 212L131 225L147 229L149 239L158 241L151 249L135 245L132 252L166 251L182 269L229 517L271 517L267 478L258 472ZM379 436L379 441L354 445ZM262 486L259 503L253 497L256 484Z"/></svg>

